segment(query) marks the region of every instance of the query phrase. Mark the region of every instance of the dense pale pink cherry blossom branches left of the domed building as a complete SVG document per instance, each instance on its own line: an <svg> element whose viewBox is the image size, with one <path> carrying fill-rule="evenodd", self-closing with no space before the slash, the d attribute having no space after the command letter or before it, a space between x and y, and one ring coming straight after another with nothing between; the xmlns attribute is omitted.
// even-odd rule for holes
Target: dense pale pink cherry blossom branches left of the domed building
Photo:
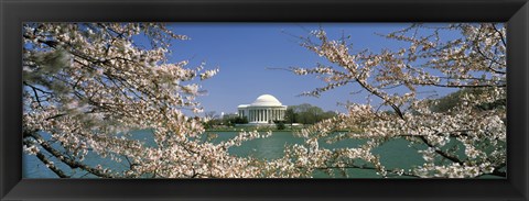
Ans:
<svg viewBox="0 0 529 201"><path fill-rule="evenodd" d="M183 112L203 110L196 80L218 72L166 60L171 41L187 36L158 23L28 23L23 40L24 150L57 176L72 172L57 163L106 178L262 176L262 160L228 153L259 133L204 142L205 120ZM137 130L154 145L129 137ZM89 153L128 168L90 166Z"/></svg>

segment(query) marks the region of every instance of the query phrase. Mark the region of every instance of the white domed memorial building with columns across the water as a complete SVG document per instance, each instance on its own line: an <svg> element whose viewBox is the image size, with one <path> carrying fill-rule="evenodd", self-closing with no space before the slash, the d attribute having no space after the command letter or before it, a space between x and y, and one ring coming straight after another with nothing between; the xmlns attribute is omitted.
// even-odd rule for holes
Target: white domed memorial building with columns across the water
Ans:
<svg viewBox="0 0 529 201"><path fill-rule="evenodd" d="M261 94L251 104L240 104L237 109L239 116L247 118L249 124L271 124L274 120L284 120L287 105L271 94Z"/></svg>

